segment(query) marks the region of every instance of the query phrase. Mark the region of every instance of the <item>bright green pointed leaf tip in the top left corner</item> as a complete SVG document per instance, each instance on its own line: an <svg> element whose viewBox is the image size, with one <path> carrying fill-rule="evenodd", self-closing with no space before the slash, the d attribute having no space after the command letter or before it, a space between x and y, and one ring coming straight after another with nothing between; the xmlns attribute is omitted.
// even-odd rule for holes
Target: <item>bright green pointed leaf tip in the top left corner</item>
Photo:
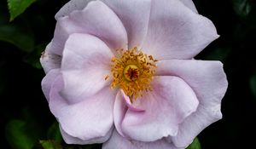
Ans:
<svg viewBox="0 0 256 149"><path fill-rule="evenodd" d="M32 3L36 2L36 0L7 0L7 2L10 21L12 21L22 14Z"/></svg>

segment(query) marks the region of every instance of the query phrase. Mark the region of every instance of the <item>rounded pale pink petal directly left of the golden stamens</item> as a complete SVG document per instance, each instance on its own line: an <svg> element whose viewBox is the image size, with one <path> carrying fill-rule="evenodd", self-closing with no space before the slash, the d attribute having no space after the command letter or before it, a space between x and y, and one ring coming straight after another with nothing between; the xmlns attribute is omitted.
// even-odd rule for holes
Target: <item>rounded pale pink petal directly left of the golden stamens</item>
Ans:
<svg viewBox="0 0 256 149"><path fill-rule="evenodd" d="M99 38L89 34L71 35L63 52L61 73L65 85L61 95L71 104L95 95L110 83L105 77L111 73L112 57L111 50Z"/></svg>

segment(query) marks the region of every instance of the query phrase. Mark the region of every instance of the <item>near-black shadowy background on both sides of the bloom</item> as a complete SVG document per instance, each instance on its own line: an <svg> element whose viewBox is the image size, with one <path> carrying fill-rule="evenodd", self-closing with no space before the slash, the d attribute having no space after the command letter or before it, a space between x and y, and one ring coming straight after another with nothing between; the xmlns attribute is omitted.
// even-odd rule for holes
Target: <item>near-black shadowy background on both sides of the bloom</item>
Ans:
<svg viewBox="0 0 256 149"><path fill-rule="evenodd" d="M12 37L19 42L22 36L27 36L23 43L31 46L29 50L22 49L15 43L1 40L0 35L0 148L17 149L19 142L33 143L59 137L53 133L55 117L49 112L41 91L44 71L38 59L53 37L54 16L64 3L67 0L38 0L24 14L9 22L7 3L0 2L0 34L1 26L13 27L17 32ZM253 0L195 0L194 3L199 14L212 20L220 35L196 59L221 60L229 81L222 102L223 119L201 132L198 136L201 147L253 148L256 134L256 3Z"/></svg>

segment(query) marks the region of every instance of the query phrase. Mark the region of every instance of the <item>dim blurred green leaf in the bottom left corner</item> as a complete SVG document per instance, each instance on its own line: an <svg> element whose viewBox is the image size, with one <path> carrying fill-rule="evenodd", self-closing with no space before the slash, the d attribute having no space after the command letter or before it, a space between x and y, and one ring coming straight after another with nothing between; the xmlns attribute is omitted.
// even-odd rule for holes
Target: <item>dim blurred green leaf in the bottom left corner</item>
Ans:
<svg viewBox="0 0 256 149"><path fill-rule="evenodd" d="M32 131L27 128L27 123L23 120L11 120L6 125L6 138L10 146L15 149L32 149L37 141L27 131Z"/></svg>

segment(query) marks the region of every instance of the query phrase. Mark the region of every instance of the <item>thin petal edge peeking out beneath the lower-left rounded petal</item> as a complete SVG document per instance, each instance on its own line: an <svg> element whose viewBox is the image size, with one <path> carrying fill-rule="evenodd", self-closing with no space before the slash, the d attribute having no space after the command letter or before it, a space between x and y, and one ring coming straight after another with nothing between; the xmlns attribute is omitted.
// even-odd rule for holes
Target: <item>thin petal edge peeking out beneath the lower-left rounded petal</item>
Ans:
<svg viewBox="0 0 256 149"><path fill-rule="evenodd" d="M76 145L85 145L85 144L95 144L95 143L102 143L107 141L110 136L112 135L113 129L110 129L108 131L108 134L102 137L97 137L97 138L93 138L90 140L81 140L77 137L73 137L71 135L68 135L60 126L60 130L61 130L61 135L63 140L65 140L65 142L67 144L76 144Z"/></svg>

